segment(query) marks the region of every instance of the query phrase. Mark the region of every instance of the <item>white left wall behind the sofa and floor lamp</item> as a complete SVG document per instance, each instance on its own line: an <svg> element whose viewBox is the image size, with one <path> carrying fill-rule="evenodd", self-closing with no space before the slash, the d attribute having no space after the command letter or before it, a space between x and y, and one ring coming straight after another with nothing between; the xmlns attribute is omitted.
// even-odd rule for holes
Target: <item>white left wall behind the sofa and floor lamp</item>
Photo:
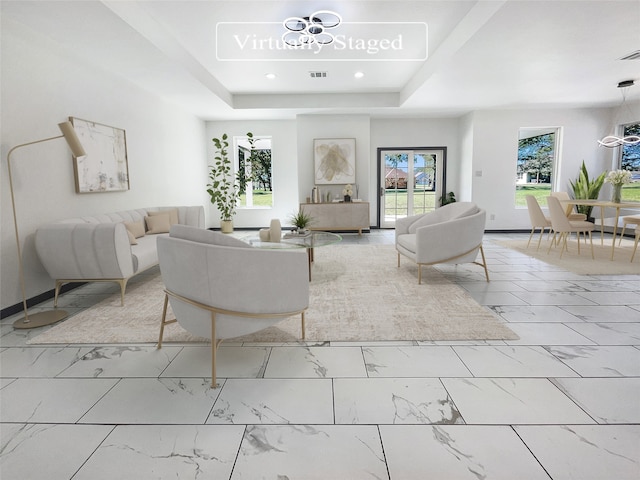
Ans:
<svg viewBox="0 0 640 480"><path fill-rule="evenodd" d="M60 135L69 116L122 128L131 189L76 194L63 139L12 154L27 297L53 288L32 247L38 225L61 218L162 205L205 205L204 122L97 67L79 63L51 40L2 19L1 307L21 301L6 156L18 144ZM193 188L194 185L202 188Z"/></svg>

